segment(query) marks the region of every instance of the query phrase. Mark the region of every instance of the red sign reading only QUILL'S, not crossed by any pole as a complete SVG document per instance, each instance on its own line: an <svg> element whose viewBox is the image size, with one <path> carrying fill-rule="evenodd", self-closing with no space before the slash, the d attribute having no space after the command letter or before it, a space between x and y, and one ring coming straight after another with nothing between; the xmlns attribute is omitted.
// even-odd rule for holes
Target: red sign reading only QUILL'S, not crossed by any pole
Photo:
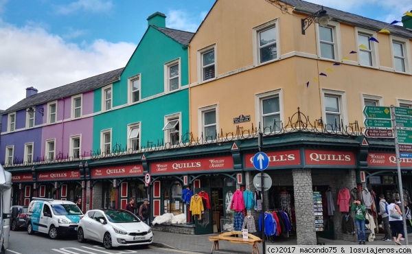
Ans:
<svg viewBox="0 0 412 254"><path fill-rule="evenodd" d="M305 150L306 165L356 165L354 152Z"/></svg>

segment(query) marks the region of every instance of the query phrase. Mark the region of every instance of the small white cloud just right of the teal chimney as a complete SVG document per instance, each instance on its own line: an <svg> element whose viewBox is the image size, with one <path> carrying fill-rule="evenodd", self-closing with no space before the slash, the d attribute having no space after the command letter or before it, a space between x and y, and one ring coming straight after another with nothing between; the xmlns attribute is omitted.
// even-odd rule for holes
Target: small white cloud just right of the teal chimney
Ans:
<svg viewBox="0 0 412 254"><path fill-rule="evenodd" d="M176 30L183 30L188 32L196 32L198 25L202 22L198 18L193 18L183 10L171 10L168 15L167 27Z"/></svg>

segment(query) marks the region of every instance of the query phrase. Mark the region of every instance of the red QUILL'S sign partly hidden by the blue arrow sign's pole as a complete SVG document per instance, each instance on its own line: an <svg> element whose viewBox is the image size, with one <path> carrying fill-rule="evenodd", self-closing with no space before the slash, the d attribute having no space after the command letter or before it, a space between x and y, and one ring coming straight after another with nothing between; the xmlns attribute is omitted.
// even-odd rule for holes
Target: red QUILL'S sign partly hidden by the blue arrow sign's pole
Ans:
<svg viewBox="0 0 412 254"><path fill-rule="evenodd" d="M288 165L300 165L301 158L299 150L265 152L269 158L269 167L282 167ZM255 168L253 166L253 156L255 154L246 154L244 156L246 168Z"/></svg>

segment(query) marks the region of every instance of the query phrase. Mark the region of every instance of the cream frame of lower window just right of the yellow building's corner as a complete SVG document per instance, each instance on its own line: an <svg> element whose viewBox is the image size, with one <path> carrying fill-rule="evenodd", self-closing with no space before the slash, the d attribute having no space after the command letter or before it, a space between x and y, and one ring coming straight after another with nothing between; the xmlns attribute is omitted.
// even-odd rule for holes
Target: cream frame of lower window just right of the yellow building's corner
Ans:
<svg viewBox="0 0 412 254"><path fill-rule="evenodd" d="M330 90L330 89L322 89L321 90L321 103L322 103L322 118L323 118L323 126L328 126L328 122L327 122L327 112L326 112L326 106L325 106L325 97L326 96L330 96L330 97L338 97L338 102L339 102L339 108L340 108L340 121L339 124L342 122L343 126L341 126L342 128L345 126L348 126L348 122L347 122L347 100L346 100L346 93L344 91L336 91L336 90ZM328 111L330 112L332 115L338 115L336 113L333 113L332 111ZM333 126L332 126L333 127ZM341 132L341 130L329 130L329 131L336 131L336 132Z"/></svg>

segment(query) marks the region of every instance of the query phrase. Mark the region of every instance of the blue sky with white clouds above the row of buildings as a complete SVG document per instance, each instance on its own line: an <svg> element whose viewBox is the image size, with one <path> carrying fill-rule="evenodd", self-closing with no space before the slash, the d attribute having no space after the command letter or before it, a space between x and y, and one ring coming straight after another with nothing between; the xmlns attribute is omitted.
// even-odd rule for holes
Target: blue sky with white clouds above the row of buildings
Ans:
<svg viewBox="0 0 412 254"><path fill-rule="evenodd" d="M412 10L412 0L309 2L388 23ZM146 19L155 12L167 16L167 27L196 32L213 4L214 0L0 0L0 109L23 100L27 87L42 92L125 67L146 32Z"/></svg>

